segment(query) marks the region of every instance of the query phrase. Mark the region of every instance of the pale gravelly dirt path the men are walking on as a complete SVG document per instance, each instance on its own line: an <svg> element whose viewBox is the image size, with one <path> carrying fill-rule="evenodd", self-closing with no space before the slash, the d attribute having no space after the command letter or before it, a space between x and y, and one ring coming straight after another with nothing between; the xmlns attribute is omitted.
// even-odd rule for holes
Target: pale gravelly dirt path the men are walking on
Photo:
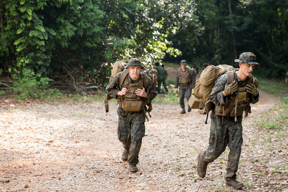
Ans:
<svg viewBox="0 0 288 192"><path fill-rule="evenodd" d="M139 156L128 172L117 138L117 107L101 102L21 103L1 100L0 191L282 191L288 187L287 128L259 131L258 117L280 100L260 90L260 100L243 122L238 180L225 187L227 150L196 173L197 154L208 146L209 123L196 109L180 115L179 105L154 104ZM275 111L278 113L279 111Z"/></svg>

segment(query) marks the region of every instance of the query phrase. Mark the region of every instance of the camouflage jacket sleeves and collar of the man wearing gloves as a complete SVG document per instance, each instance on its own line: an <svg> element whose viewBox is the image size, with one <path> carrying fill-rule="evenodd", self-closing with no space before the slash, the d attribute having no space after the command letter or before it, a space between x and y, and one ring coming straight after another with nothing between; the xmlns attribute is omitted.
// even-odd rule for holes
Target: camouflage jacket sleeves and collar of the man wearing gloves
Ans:
<svg viewBox="0 0 288 192"><path fill-rule="evenodd" d="M235 81L238 82L238 87L245 87L249 77L247 77L244 81L241 81L239 77L236 75L236 72L234 72ZM211 94L209 96L209 99L216 105L224 105L228 101L228 97L223 97L223 91L225 89L225 84L227 83L227 73L221 75L215 82L214 87L212 88ZM249 94L249 102L252 104L255 104L259 100L259 94L255 97L253 95ZM215 107L214 107L215 108Z"/></svg>

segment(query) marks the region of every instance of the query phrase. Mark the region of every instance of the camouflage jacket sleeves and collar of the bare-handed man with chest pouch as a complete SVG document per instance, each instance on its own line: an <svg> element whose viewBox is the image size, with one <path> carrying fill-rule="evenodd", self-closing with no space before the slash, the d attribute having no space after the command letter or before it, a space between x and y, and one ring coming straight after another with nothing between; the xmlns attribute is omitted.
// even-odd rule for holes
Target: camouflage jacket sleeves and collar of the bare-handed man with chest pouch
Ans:
<svg viewBox="0 0 288 192"><path fill-rule="evenodd" d="M113 79L108 83L108 85L106 87L107 93L111 97L113 97L114 99L117 99L117 93L121 90L120 89L120 85L119 85L119 78L120 78L120 75L122 73L123 72L117 73L115 75L115 77L113 77ZM135 81L130 79L130 77L128 77L128 79L129 79L129 81L131 83L138 83L139 80L140 80L140 77L139 77L139 79L137 79ZM157 96L157 93L156 93L156 90L155 90L155 86L154 86L154 84L153 84L151 79L150 79L149 85L145 88L145 92L147 93L147 98L144 97L144 100L145 100L146 103L150 103L152 101L152 99L154 99Z"/></svg>

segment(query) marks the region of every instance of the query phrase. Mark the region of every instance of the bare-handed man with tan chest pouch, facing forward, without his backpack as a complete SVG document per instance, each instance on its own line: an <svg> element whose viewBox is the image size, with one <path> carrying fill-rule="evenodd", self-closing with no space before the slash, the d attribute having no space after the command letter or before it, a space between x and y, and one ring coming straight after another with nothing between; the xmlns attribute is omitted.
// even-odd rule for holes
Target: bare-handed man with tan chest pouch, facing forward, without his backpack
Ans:
<svg viewBox="0 0 288 192"><path fill-rule="evenodd" d="M146 104L156 97L157 93L152 80L144 88L144 77L141 69L142 63L137 58L129 60L127 69L129 74L123 85L119 85L119 78L123 72L113 77L107 85L107 93L117 99L118 113L118 139L122 142L124 151L122 160L129 163L129 171L137 172L138 156L141 149L142 137L145 135Z"/></svg>

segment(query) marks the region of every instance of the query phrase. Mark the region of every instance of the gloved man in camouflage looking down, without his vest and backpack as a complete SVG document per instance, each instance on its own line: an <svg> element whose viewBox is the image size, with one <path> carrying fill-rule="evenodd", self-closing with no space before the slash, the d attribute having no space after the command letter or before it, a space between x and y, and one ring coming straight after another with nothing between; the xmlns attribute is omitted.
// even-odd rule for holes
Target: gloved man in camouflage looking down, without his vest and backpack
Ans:
<svg viewBox="0 0 288 192"><path fill-rule="evenodd" d="M217 106L226 104L234 92L239 88L246 88L247 96L246 101L255 104L259 100L259 93L254 85L249 84L249 76L253 71L256 62L255 55L251 52L242 53L239 59L240 69L234 72L235 82L230 85L227 83L227 73L221 75L215 82L215 86L209 96L209 99ZM238 77L240 76L240 77ZM245 78L246 77L246 78ZM230 87L227 88L226 87ZM229 90L228 90L229 89ZM245 102L246 102L245 101ZM242 111L243 112L243 111ZM228 162L225 174L226 185L232 186L234 189L240 189L244 185L236 181L236 172L238 170L238 163L241 154L242 138L242 112L236 118L227 116L216 115L215 107L211 113L211 127L209 147L204 152L198 154L197 173L201 178L206 175L207 165L217 159L226 149L228 145L230 152L228 155ZM230 113L228 113L230 114Z"/></svg>

